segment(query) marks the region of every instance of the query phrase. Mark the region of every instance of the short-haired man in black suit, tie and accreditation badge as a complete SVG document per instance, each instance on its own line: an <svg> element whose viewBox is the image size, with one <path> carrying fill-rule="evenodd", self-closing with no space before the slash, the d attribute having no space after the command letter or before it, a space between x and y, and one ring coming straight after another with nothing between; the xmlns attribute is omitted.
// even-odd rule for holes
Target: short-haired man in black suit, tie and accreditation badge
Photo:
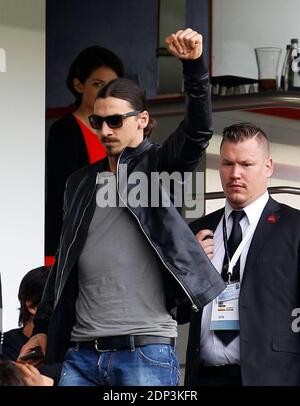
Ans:
<svg viewBox="0 0 300 406"><path fill-rule="evenodd" d="M191 228L223 279L239 288L234 321L239 327L211 330L214 303L191 316L186 385L300 385L300 335L292 328L292 312L300 308L300 211L269 196L272 173L260 128L241 123L224 129L225 207ZM241 240L235 258L231 233ZM226 301L215 306L223 310L219 321L230 318L234 306Z"/></svg>

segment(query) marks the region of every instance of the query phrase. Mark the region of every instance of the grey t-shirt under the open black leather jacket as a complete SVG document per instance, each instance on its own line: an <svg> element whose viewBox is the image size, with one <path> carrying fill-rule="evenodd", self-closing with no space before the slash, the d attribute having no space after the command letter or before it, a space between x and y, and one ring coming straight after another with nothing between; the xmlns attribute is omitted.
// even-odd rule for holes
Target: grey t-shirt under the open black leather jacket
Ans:
<svg viewBox="0 0 300 406"><path fill-rule="evenodd" d="M126 207L96 205L78 262L71 340L126 334L176 337L177 323L165 305L162 266Z"/></svg>

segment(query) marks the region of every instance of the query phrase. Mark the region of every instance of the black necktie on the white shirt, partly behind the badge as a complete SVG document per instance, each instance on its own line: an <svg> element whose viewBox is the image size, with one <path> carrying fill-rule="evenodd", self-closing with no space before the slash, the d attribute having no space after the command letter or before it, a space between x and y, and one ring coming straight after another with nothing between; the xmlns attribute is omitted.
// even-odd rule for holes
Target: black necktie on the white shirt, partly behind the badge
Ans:
<svg viewBox="0 0 300 406"><path fill-rule="evenodd" d="M240 245L242 241L242 229L240 226L241 219L245 216L244 210L233 210L230 214L233 219L233 226L230 233L230 237L227 241L227 252L225 252L223 268L222 268L222 278L225 282L228 282L229 275L228 275L228 256L229 259L233 257L237 247ZM233 270L232 276L230 278L231 282L238 282L240 280L240 260L236 262ZM224 345L228 345L235 337L239 335L238 330L216 330L215 334L219 339L222 341Z"/></svg>

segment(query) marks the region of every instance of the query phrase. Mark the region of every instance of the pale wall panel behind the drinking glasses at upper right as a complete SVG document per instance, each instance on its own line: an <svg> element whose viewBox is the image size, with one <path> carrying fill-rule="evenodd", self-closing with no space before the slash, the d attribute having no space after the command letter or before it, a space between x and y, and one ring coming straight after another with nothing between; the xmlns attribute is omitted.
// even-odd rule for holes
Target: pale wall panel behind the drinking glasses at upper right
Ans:
<svg viewBox="0 0 300 406"><path fill-rule="evenodd" d="M257 78L256 47L300 39L299 0L213 0L213 75Z"/></svg>

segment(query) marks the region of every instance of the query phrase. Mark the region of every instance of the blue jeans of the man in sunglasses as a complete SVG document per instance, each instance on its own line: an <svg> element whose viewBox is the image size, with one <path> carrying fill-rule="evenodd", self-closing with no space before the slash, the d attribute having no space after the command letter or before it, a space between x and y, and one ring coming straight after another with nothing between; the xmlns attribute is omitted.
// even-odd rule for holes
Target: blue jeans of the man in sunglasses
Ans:
<svg viewBox="0 0 300 406"><path fill-rule="evenodd" d="M59 386L176 386L180 378L175 350L167 344L135 351L97 352L70 348Z"/></svg>

